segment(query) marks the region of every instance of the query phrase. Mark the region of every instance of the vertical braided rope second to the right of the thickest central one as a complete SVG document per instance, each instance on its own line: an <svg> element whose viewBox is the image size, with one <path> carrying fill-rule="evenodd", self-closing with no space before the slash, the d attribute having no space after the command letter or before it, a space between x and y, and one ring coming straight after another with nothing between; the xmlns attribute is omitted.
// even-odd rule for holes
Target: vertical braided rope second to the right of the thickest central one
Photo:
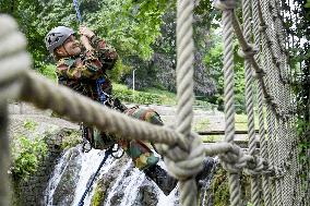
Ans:
<svg viewBox="0 0 310 206"><path fill-rule="evenodd" d="M251 41L251 0L242 1L243 36L247 43ZM247 51L243 51L247 52ZM252 66L249 59L245 59L245 77L246 77L246 106L248 114L248 138L249 154L255 155L255 128L253 110L253 88L252 88ZM251 175L251 202L253 205L260 205L260 186L258 175Z"/></svg>

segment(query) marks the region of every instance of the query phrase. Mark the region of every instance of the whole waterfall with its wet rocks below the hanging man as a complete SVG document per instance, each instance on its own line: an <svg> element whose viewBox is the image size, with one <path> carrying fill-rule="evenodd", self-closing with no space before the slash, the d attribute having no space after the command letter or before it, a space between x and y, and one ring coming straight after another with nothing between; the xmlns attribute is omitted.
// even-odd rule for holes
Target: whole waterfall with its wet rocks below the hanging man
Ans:
<svg viewBox="0 0 310 206"><path fill-rule="evenodd" d="M96 149L90 153L82 153L81 147L68 149L59 159L50 178L46 190L46 205L78 206L104 155L105 152ZM165 169L163 162L159 165ZM214 166L213 171L215 168ZM204 180L202 191L205 193L212 178L213 174L210 174ZM166 196L144 172L134 168L132 160L126 156L119 160L112 157L107 159L84 199L84 206L93 204L94 196L98 195L97 187L103 190L104 197L99 203L105 206L179 205L177 189ZM205 196L201 198L203 203L206 202Z"/></svg>

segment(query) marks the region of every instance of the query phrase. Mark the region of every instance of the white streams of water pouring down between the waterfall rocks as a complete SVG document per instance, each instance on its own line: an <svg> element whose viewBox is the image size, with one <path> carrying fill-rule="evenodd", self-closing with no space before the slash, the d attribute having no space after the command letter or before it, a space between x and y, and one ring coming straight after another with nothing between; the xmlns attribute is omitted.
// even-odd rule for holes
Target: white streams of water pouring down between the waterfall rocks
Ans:
<svg viewBox="0 0 310 206"><path fill-rule="evenodd" d="M48 187L46 190L46 194L48 194L48 198L46 199L47 206L52 206L55 205L52 203L52 196L55 195L55 191L61 180L61 177L64 172L64 170L68 168L68 162L71 159L71 156L73 155L74 157L78 157L80 159L79 163L81 163L81 170L79 172L79 181L75 186L75 192L74 192L74 201L73 204L70 204L71 206L78 206L81 197L83 196L86 184L92 178L92 175L95 173L97 170L100 161L104 158L105 152L103 150L96 150L92 149L90 153L82 153L81 149L75 150L75 153L72 153L72 149L78 149L78 148L71 148L67 150L61 159L59 160L59 163L56 166L55 171L52 173L52 178L49 181ZM76 156L76 152L79 152ZM106 161L106 163L103 166L98 177L94 181L94 184L92 189L90 190L88 194L86 195L84 199L84 206L90 206L92 197L94 196L95 189L97 185L97 180L100 180L104 174L109 172L109 170L115 167L115 163L117 160L115 160L112 157L109 157ZM141 172L136 168L132 168L132 161L129 160L126 165L121 166L119 169L119 174L114 181L114 185L107 191L107 197L106 197L106 203L105 206L111 206L116 205L116 203L111 203L112 198L118 198L117 203L119 203L119 206L132 206L135 204L135 201L139 195L140 186L142 183L145 181L145 174L144 172ZM215 163L216 165L216 163ZM163 161L159 161L159 166L164 169L166 169L165 165ZM216 168L216 166L214 167ZM206 180L206 184L204 184L203 189L205 192L207 191L210 186L210 181L212 179L213 174L210 174L210 177ZM157 195L157 206L176 206L178 205L178 189L176 187L168 196L166 196L158 186L154 184L154 193ZM153 193L153 194L154 194ZM141 198L141 197L139 197ZM114 199L116 201L116 199ZM205 199L201 199L202 202L205 202Z"/></svg>

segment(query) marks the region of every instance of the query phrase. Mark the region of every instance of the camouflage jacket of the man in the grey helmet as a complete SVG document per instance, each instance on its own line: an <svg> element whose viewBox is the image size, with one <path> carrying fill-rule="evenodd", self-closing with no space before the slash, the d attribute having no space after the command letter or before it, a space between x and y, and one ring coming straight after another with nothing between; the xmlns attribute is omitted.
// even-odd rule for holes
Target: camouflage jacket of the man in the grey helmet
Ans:
<svg viewBox="0 0 310 206"><path fill-rule="evenodd" d="M94 50L82 51L78 57L60 59L57 62L56 73L59 84L69 86L94 100L99 100L96 80L105 77L103 90L111 94L111 82L106 71L114 68L118 54L112 47L96 36L91 39L91 45Z"/></svg>

